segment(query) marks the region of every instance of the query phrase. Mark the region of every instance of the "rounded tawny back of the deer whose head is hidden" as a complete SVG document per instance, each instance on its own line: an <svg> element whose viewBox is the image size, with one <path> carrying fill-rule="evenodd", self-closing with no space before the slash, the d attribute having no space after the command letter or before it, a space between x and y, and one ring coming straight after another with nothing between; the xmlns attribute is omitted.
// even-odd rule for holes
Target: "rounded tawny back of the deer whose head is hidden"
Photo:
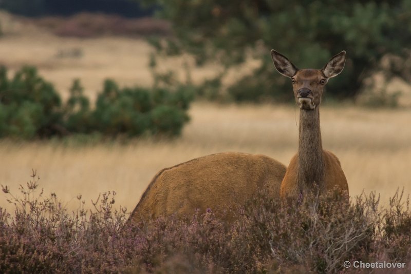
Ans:
<svg viewBox="0 0 411 274"><path fill-rule="evenodd" d="M225 152L193 159L158 172L129 220L192 216L196 209L203 213L207 208L224 213L263 187L279 197L285 172L283 164L265 155Z"/></svg>

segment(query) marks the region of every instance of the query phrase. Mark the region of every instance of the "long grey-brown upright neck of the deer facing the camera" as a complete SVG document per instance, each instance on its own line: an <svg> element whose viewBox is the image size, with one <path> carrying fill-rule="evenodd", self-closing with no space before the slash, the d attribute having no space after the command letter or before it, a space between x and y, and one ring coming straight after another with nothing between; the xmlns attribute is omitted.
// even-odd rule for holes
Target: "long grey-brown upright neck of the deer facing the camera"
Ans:
<svg viewBox="0 0 411 274"><path fill-rule="evenodd" d="M320 110L300 111L298 144L298 184L300 189L322 189L324 184L324 159L320 131Z"/></svg>

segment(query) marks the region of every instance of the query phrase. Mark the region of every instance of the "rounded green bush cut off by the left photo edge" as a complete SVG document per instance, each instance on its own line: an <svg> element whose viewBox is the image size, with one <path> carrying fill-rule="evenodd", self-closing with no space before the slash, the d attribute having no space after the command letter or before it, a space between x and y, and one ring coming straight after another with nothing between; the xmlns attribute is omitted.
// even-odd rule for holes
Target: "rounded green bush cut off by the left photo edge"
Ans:
<svg viewBox="0 0 411 274"><path fill-rule="evenodd" d="M61 99L34 67L23 67L12 80L0 69L0 136L31 139L59 133Z"/></svg>

